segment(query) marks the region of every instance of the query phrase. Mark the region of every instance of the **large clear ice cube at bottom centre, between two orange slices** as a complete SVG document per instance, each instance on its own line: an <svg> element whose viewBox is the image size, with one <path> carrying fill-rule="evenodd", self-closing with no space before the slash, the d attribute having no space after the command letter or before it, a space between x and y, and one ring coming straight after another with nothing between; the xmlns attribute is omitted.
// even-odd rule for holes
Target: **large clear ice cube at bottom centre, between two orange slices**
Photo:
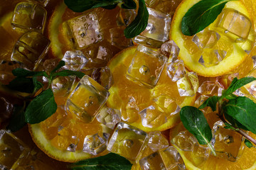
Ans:
<svg viewBox="0 0 256 170"><path fill-rule="evenodd" d="M117 124L107 150L135 161L146 139L146 132L121 122Z"/></svg>

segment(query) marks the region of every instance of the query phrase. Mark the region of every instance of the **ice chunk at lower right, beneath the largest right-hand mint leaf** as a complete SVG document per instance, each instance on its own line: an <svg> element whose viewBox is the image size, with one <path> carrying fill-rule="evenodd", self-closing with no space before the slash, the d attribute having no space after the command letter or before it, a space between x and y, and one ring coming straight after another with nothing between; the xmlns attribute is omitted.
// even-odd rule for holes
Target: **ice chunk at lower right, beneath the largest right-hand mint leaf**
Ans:
<svg viewBox="0 0 256 170"><path fill-rule="evenodd" d="M213 125L213 145L217 157L235 162L242 154L245 144L243 137L234 130L225 129L225 124L219 120Z"/></svg>

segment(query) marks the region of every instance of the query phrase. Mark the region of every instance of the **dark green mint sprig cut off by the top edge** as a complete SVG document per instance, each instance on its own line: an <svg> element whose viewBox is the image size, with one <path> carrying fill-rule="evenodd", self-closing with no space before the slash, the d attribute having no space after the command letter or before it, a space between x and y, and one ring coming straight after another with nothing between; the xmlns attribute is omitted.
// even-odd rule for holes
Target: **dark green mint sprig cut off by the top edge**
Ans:
<svg viewBox="0 0 256 170"><path fill-rule="evenodd" d="M91 8L112 9L121 4L121 8L135 9L137 4L134 0L64 0L65 4L74 12L83 12ZM144 0L139 0L139 9L136 18L127 28L124 29L126 38L134 38L146 29L149 19L149 12L146 9Z"/></svg>

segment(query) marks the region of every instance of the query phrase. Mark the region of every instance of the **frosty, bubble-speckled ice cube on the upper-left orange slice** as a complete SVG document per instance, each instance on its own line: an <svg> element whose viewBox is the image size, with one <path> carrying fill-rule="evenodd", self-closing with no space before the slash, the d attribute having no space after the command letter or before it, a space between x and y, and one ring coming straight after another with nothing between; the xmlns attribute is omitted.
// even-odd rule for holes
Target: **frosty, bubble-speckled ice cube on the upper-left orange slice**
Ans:
<svg viewBox="0 0 256 170"><path fill-rule="evenodd" d="M83 49L103 40L97 15L93 12L65 21L63 30L75 49Z"/></svg>

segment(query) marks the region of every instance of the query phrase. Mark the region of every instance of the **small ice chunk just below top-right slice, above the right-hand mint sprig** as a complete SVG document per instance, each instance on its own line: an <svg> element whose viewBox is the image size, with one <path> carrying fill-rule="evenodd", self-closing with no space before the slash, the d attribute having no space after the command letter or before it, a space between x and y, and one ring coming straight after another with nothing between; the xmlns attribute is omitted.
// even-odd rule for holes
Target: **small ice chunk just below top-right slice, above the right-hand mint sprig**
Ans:
<svg viewBox="0 0 256 170"><path fill-rule="evenodd" d="M218 82L203 81L201 86L198 88L198 93L203 94L204 96L214 96L215 94L221 96L223 89L223 86Z"/></svg>

